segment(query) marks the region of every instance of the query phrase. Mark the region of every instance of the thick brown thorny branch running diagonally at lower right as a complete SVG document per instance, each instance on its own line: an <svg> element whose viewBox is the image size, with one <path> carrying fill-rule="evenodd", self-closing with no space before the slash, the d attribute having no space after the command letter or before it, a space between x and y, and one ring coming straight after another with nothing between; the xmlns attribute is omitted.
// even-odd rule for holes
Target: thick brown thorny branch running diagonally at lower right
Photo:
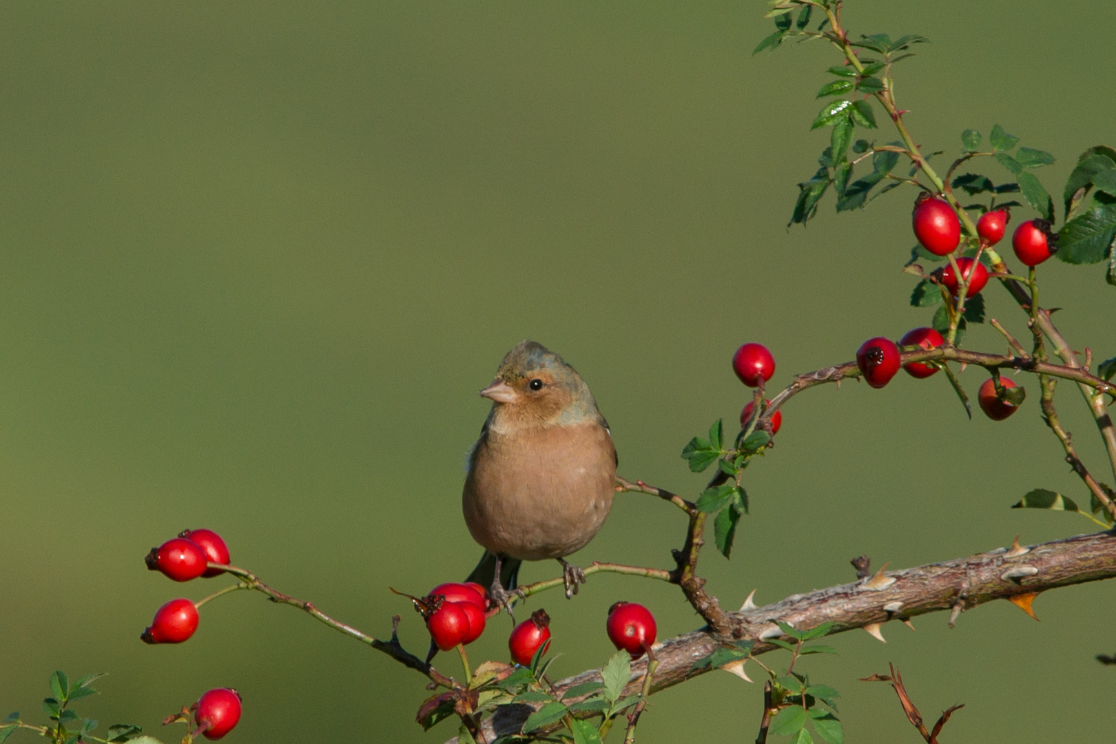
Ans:
<svg viewBox="0 0 1116 744"><path fill-rule="evenodd" d="M959 603L962 592L962 609L972 609L995 599L1113 578L1116 578L1116 535L1101 532L1018 550L999 548L969 558L888 571L881 577L792 595L773 605L725 615L739 637L756 641L752 653L764 654L777 648L764 642L779 635L776 620L802 630L833 622L831 632L844 632L950 610ZM709 656L720 645L710 628L693 630L657 645L655 656L660 664L651 692L709 671L709 667L695 669L694 661ZM632 665L632 679L623 695L639 692L645 669L645 659ZM574 685L586 682L600 682L600 673L590 669L562 679L555 684L554 692L561 695ZM518 726L530 713L527 706L507 707L508 711L485 721L487 736L518 732Z"/></svg>

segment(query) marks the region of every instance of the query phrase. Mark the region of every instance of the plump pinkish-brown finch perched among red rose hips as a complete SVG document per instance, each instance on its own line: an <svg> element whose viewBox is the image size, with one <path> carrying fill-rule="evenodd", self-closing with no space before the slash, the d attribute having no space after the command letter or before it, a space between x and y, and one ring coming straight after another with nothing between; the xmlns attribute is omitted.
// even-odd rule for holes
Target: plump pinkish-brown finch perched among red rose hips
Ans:
<svg viewBox="0 0 1116 744"><path fill-rule="evenodd" d="M616 492L608 422L577 370L537 341L509 351L480 395L492 409L469 454L462 510L484 554L466 580L491 586L510 611L522 561L557 559L570 598L585 572L566 555L597 534Z"/></svg>

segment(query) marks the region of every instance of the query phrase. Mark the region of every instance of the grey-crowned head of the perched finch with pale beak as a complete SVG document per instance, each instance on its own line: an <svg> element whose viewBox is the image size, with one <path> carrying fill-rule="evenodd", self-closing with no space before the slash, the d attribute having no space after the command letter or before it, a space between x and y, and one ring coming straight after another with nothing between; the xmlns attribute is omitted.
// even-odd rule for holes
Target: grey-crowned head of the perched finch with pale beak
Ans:
<svg viewBox="0 0 1116 744"><path fill-rule="evenodd" d="M598 416L589 386L560 356L537 341L522 341L500 363L492 384L493 416L511 424L570 425Z"/></svg>

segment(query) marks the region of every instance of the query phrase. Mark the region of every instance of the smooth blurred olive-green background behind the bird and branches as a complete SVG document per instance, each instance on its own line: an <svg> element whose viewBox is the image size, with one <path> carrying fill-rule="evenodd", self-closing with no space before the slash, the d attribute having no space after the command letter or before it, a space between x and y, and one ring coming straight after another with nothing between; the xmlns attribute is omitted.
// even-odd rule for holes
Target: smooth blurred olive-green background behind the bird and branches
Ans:
<svg viewBox="0 0 1116 744"><path fill-rule="evenodd" d="M694 494L679 452L738 415L740 342L767 344L783 385L924 325L898 272L910 192L839 216L829 196L809 229L785 229L827 142L808 129L836 57L752 57L764 8L0 4L0 714L40 717L56 668L102 670L105 694L78 707L102 733L126 721L176 741L160 718L230 685L246 700L230 742L440 742L450 724L413 721L421 677L258 595L205 607L187 644L144 646L158 605L225 582L172 584L144 553L215 529L233 562L369 632L402 613L420 650L420 619L387 587L422 592L478 558L464 453L488 409L477 390L520 339L583 373L622 474ZM1116 144L1116 6L856 0L845 20L933 40L897 68L927 151L1000 123L1055 153L1039 175L1060 194L1080 151ZM1076 348L1116 354L1100 268L1041 277ZM1007 294L987 294L1024 334ZM1003 346L984 327L969 338ZM973 392L981 373L961 379ZM1079 396L1062 399L1105 473ZM1088 501L1035 399L970 423L943 379L901 376L785 414L748 472L731 562L701 566L725 606L848 581L859 553L898 568L1090 529L1008 509L1036 486ZM682 530L668 505L623 495L575 560L667 566ZM1114 591L1045 595L1041 622L998 602L954 630L941 615L886 626L886 646L847 634L806 668L843 692L850 742L916 741L891 689L855 682L887 661L927 716L968 705L951 741L1101 741L1116 671L1093 656L1116 650ZM530 603L554 617L558 674L607 657L618 598L650 605L661 637L699 625L674 588L594 577L574 601ZM506 626L474 659L504 658ZM760 697L708 675L656 696L641 741L751 741Z"/></svg>

